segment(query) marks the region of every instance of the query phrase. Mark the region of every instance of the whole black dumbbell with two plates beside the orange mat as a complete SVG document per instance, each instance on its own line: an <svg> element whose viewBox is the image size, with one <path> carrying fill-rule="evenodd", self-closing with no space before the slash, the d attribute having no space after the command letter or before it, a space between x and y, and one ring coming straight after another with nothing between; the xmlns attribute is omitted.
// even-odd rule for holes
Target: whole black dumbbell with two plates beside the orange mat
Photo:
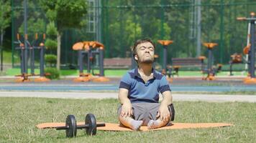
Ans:
<svg viewBox="0 0 256 143"><path fill-rule="evenodd" d="M86 114L85 124L83 125L77 125L76 117L70 114L65 120L65 126L56 127L56 129L65 129L66 137L76 137L77 129L86 129L86 134L92 136L96 134L97 127L105 127L105 123L96 124L96 118L93 114Z"/></svg>

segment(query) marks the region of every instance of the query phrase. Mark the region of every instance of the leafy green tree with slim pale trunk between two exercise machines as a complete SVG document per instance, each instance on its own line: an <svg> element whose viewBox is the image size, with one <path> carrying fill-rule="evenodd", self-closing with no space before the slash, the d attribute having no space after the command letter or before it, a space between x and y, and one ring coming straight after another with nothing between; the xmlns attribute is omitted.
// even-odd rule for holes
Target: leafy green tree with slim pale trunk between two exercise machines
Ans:
<svg viewBox="0 0 256 143"><path fill-rule="evenodd" d="M79 29L85 24L84 16L87 14L85 0L40 0L42 9L50 21L54 21L58 30L57 41L57 69L60 69L60 43L65 29Z"/></svg>

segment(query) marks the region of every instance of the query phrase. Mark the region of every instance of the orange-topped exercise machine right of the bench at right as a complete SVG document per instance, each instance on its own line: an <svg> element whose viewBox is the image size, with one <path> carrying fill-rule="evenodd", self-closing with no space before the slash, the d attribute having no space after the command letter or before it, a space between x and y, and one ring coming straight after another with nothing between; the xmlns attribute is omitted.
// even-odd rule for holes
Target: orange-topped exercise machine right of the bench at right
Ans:
<svg viewBox="0 0 256 143"><path fill-rule="evenodd" d="M203 77L203 80L215 80L215 75L216 73L221 70L221 64L218 64L218 68L216 69L213 66L213 61L214 61L214 55L212 53L213 49L215 46L217 46L218 44L216 43L204 43L204 46L206 46L207 51L208 51L208 62L207 62L207 67L206 69L202 69L203 74L207 74L206 77Z"/></svg>

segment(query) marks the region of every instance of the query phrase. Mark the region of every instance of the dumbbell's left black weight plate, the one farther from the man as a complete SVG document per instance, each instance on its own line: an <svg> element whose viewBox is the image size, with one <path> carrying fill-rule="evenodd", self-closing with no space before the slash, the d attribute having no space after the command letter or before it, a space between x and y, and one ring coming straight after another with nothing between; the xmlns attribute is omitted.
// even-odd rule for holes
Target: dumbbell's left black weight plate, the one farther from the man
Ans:
<svg viewBox="0 0 256 143"><path fill-rule="evenodd" d="M76 137L76 117L73 114L68 115L68 117L65 120L65 135L66 137Z"/></svg>

